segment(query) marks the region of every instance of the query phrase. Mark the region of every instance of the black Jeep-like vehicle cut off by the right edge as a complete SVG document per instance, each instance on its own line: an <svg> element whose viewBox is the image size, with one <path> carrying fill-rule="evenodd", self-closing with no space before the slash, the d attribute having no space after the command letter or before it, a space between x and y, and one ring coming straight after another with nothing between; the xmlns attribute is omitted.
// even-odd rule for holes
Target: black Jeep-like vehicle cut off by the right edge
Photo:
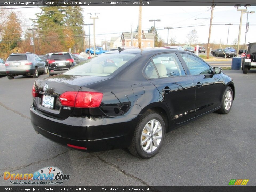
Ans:
<svg viewBox="0 0 256 192"><path fill-rule="evenodd" d="M256 43L249 43L245 57L242 59L243 73L247 73L251 67L256 67Z"/></svg>

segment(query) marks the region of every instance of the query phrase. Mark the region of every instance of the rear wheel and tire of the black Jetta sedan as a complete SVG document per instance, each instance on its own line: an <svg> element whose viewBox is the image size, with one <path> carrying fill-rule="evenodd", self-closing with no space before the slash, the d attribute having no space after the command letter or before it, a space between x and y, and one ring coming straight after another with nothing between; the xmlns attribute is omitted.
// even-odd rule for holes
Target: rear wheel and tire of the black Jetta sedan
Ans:
<svg viewBox="0 0 256 192"><path fill-rule="evenodd" d="M137 123L128 150L134 156L148 159L158 153L164 137L165 122L161 115L146 111Z"/></svg>

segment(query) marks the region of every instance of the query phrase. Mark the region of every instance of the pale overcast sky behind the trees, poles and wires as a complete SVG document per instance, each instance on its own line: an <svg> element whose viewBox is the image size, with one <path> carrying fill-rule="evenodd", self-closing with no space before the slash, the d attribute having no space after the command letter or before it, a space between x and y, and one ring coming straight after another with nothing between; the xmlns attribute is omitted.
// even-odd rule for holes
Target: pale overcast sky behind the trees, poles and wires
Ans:
<svg viewBox="0 0 256 192"><path fill-rule="evenodd" d="M99 19L95 20L97 44L105 38L106 41L110 41L110 38L113 36L118 37L121 36L122 32L130 32L131 26L133 26L132 29L135 31L138 26L138 6L82 7L84 9L85 23L93 23L93 20L89 19L89 14L87 13L92 13L93 15L94 13L100 13ZM35 13L41 11L37 7L14 10L21 11L23 17L27 18L24 27L30 27L31 22L28 18L35 18ZM249 7L248 11L256 12L256 6ZM235 38L238 39L240 13L234 6L216 6L213 12L210 43L227 43L228 25L225 25L227 23L233 24L229 27L229 45L232 44ZM208 41L210 19L207 18L210 18L210 16L211 10L207 6L143 6L142 30L146 32L154 25L154 22L149 22L149 19L161 19L160 22L155 22L155 27L164 42L167 42L167 29L164 29L165 27L173 27L173 29L169 29L169 39L172 36L178 43L186 43L187 34L191 29L195 28L198 34L198 44L200 45L200 43L207 43ZM199 19L195 20L196 18ZM246 18L247 13L243 14L240 44L244 44L245 42ZM249 13L248 22L250 23L250 27L247 33L246 43L256 42L256 13ZM88 34L88 26L85 26L85 32ZM92 34L93 26L90 26L91 41L93 41Z"/></svg>

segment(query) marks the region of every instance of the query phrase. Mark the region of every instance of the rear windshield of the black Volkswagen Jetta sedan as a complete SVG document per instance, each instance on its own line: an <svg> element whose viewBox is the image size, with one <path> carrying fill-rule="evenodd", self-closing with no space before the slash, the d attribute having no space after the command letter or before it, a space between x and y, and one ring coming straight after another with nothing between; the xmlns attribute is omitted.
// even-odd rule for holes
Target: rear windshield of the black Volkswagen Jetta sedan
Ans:
<svg viewBox="0 0 256 192"><path fill-rule="evenodd" d="M139 54L113 53L95 56L64 72L65 75L107 76L127 65Z"/></svg>

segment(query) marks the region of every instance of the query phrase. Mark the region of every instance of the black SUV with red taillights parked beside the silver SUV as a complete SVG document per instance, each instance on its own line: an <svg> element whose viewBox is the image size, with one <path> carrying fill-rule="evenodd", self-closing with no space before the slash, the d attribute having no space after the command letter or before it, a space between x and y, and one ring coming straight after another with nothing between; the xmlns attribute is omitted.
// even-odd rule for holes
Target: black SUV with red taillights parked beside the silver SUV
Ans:
<svg viewBox="0 0 256 192"><path fill-rule="evenodd" d="M61 74L76 65L71 53L53 53L48 61L49 76Z"/></svg>

